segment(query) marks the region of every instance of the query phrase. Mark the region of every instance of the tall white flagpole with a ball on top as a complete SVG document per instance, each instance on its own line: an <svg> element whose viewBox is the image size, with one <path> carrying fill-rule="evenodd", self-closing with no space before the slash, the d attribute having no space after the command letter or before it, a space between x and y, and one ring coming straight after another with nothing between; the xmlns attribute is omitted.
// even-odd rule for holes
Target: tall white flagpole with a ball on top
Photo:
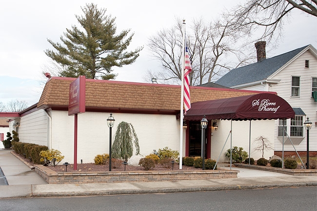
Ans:
<svg viewBox="0 0 317 211"><path fill-rule="evenodd" d="M185 19L182 25L182 67L181 67L181 88L180 88L180 125L179 125L179 169L182 169L183 157L183 120L184 120L184 68L185 68Z"/></svg>

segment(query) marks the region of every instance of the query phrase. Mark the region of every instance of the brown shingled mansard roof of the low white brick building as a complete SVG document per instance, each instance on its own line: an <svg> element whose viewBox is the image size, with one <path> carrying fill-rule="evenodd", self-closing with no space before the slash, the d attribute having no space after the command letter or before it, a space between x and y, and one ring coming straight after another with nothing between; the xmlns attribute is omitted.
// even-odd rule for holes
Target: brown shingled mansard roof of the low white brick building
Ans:
<svg viewBox="0 0 317 211"><path fill-rule="evenodd" d="M76 78L51 77L38 108L67 110L69 84ZM190 87L191 102L253 95L256 91ZM180 86L86 79L86 111L176 114L180 109Z"/></svg>

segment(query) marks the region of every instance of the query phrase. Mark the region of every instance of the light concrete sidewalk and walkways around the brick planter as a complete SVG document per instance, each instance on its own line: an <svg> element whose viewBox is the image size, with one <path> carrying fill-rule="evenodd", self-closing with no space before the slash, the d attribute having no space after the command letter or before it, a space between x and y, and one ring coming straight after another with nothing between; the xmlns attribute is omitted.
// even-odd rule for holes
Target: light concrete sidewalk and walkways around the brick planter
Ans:
<svg viewBox="0 0 317 211"><path fill-rule="evenodd" d="M1 176L0 173L0 181L6 179L8 183L0 182L0 198L317 187L316 176L292 176L243 168L232 168L239 171L238 178L229 179L54 185L47 184L34 170L30 170L11 154L10 150L0 150L0 168L4 174Z"/></svg>

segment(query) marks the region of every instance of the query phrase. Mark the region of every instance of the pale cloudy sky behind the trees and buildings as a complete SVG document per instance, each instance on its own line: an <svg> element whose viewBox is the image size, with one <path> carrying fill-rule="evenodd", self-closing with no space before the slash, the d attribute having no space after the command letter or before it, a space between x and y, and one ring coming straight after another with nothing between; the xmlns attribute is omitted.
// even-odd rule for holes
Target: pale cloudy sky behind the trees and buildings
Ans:
<svg viewBox="0 0 317 211"><path fill-rule="evenodd" d="M239 0L244 2L244 0ZM135 63L115 70L116 80L144 82L142 76L148 70L159 70L159 63L149 56L146 41L162 28L175 24L175 17L186 22L202 17L206 22L216 18L226 7L236 5L237 0L160 0L160 1L104 1L94 0L107 14L116 17L117 32L131 29L135 35L131 49L145 48ZM60 42L59 37L78 25L76 15L81 15L80 6L86 0L15 0L4 1L0 7L0 102L12 99L25 100L29 105L40 99L43 84L47 78L41 75L49 58L44 54L52 49L47 38ZM155 5L154 5L155 4ZM294 50L307 44L317 47L317 18L294 13L285 22L284 37L277 49L269 51L267 57Z"/></svg>

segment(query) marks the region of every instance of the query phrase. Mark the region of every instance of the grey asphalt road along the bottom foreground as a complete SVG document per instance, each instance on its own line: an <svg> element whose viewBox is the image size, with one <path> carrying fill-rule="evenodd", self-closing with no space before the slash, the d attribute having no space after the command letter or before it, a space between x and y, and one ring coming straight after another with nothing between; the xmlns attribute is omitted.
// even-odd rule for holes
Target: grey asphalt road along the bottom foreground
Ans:
<svg viewBox="0 0 317 211"><path fill-rule="evenodd" d="M0 211L317 211L317 187L0 199Z"/></svg>

